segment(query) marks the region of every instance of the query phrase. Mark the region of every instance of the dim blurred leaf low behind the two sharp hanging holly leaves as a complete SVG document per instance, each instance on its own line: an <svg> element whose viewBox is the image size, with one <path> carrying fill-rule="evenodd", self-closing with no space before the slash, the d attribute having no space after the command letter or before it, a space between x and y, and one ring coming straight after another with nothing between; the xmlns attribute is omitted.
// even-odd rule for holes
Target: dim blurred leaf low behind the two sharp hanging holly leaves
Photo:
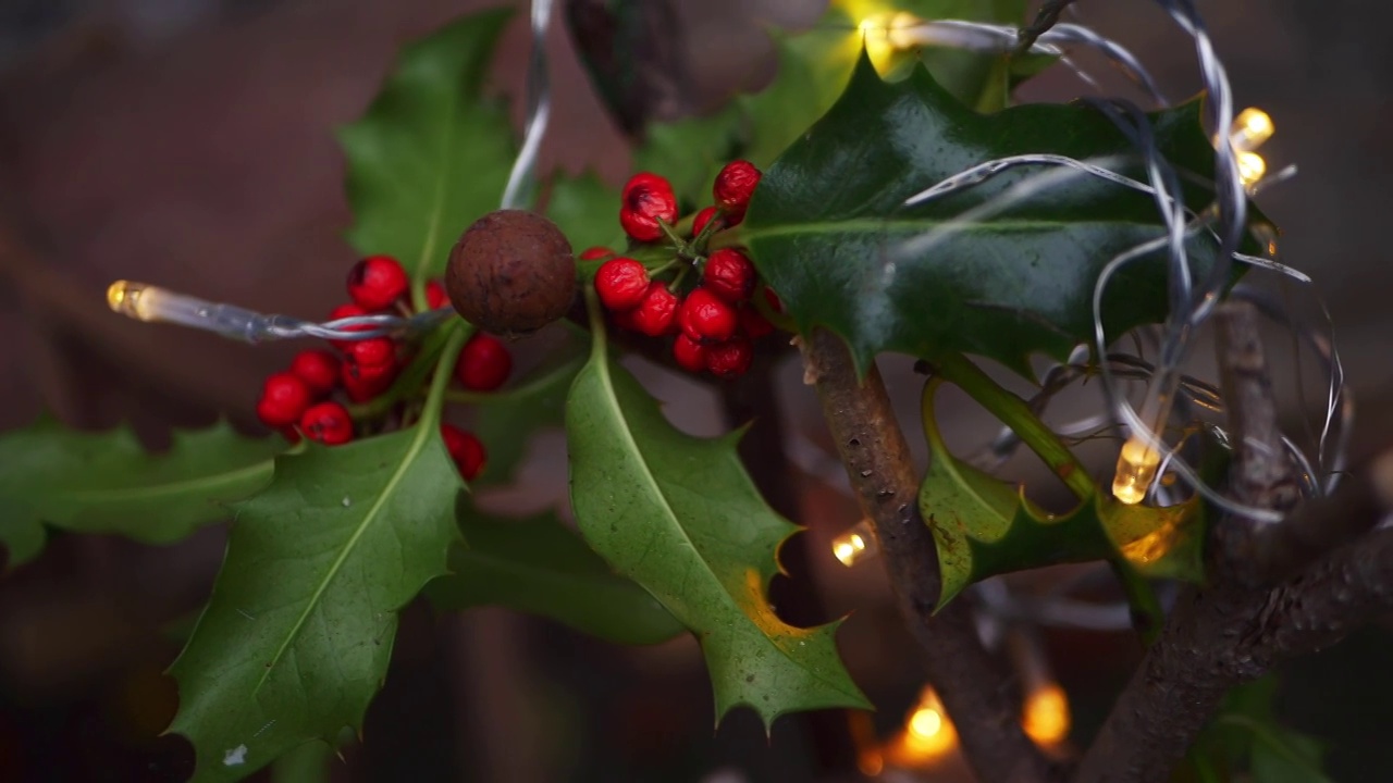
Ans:
<svg viewBox="0 0 1393 783"><path fill-rule="evenodd" d="M468 545L450 550L451 574L426 588L437 607L506 606L625 645L663 642L685 630L556 514L503 520L461 507Z"/></svg>

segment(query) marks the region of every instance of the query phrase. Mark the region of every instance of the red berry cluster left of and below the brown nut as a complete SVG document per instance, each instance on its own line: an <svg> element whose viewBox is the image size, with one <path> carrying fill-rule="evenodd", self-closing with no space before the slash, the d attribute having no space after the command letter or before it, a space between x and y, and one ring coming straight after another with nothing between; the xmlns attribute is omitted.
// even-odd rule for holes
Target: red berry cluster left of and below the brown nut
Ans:
<svg viewBox="0 0 1393 783"><path fill-rule="evenodd" d="M394 258L375 255L359 261L348 273L348 304L334 308L330 320L386 312L410 313L407 291L411 281L405 269ZM444 287L430 281L426 286L426 307L430 309L450 304ZM354 330L355 327L348 327ZM368 326L358 330L369 329ZM295 354L290 369L273 373L262 387L256 403L256 417L290 440L301 436L329 446L354 439L352 412L333 398L343 392L350 403L368 403L380 397L411 359L414 346L391 337L338 340L337 352L306 350ZM465 389L492 392L513 372L513 355L497 337L476 333L464 344L456 362L456 380ZM450 458L465 479L474 479L483 470L488 453L471 432L451 424L440 425Z"/></svg>

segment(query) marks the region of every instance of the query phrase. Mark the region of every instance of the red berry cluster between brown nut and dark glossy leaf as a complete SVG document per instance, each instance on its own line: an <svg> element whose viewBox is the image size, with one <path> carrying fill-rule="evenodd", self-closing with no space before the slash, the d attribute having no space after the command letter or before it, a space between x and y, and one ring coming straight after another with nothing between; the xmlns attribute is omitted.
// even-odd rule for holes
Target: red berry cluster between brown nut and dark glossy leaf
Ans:
<svg viewBox="0 0 1393 783"><path fill-rule="evenodd" d="M620 226L637 244L666 238L676 258L644 263L609 248L581 254L585 261L607 259L595 273L595 293L614 323L649 337L673 336L673 359L687 371L734 378L749 369L752 340L775 329L759 312L754 294L763 288L766 302L776 311L779 300L759 284L755 266L741 249L723 247L708 252L708 248L715 234L744 220L758 184L759 170L748 160L726 164L712 188L715 205L692 216L691 227L683 230L677 198L666 178L649 171L630 178ZM698 272L694 283L688 281L692 269Z"/></svg>

